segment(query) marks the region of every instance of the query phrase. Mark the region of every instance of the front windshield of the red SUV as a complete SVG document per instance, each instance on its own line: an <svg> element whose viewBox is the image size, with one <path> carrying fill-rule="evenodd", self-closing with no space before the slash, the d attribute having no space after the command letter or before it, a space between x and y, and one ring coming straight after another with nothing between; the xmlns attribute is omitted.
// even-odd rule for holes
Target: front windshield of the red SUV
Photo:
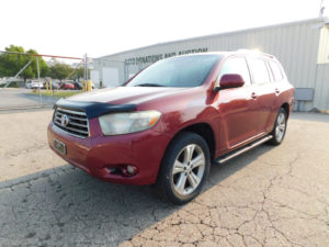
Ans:
<svg viewBox="0 0 329 247"><path fill-rule="evenodd" d="M195 55L160 60L138 74L127 87L197 87L219 58L218 55Z"/></svg>

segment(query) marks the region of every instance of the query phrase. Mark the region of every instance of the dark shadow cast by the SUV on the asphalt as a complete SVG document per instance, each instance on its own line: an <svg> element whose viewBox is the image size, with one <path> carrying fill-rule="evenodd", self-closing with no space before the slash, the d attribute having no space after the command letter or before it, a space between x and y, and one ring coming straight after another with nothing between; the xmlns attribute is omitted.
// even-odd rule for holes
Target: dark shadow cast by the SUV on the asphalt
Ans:
<svg viewBox="0 0 329 247"><path fill-rule="evenodd" d="M213 165L203 192L271 148ZM106 183L63 166L0 182L0 246L116 246L179 209L151 187Z"/></svg>

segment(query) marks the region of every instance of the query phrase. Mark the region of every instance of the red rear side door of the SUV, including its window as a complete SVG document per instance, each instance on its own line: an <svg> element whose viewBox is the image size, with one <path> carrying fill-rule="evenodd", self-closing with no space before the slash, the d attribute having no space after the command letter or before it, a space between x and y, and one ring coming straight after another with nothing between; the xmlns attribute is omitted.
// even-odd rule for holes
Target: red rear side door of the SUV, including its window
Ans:
<svg viewBox="0 0 329 247"><path fill-rule="evenodd" d="M258 134L270 132L273 108L275 103L275 90L271 82L271 74L268 61L262 57L249 57L248 64L252 75L251 98L256 103L256 130Z"/></svg>

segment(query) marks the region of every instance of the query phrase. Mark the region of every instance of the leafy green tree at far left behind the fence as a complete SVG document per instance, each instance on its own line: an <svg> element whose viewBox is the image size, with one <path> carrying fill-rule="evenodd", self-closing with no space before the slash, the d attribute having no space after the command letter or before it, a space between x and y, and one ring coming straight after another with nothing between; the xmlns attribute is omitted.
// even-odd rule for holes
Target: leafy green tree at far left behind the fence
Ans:
<svg viewBox="0 0 329 247"><path fill-rule="evenodd" d="M5 47L7 52L25 53L22 46L10 45ZM27 54L36 55L37 52L29 49ZM0 77L13 77L15 76L30 60L32 63L20 75L26 81L27 78L37 77L36 59L38 59L41 77L44 77L48 72L48 66L42 57L27 56L22 54L1 54L0 55Z"/></svg>

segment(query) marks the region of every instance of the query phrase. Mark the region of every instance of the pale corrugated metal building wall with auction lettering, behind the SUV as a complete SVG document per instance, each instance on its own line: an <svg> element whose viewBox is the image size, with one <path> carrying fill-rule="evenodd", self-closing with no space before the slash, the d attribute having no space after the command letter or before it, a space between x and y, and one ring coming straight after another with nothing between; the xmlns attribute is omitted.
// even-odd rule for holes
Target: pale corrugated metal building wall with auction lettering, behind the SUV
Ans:
<svg viewBox="0 0 329 247"><path fill-rule="evenodd" d="M163 43L106 56L105 58L124 61L133 57L173 52L178 54L179 50L204 47L207 48L208 52L257 48L277 57L295 88L315 88L315 100L314 102L306 102L304 104L305 111L309 111L313 108L328 111L329 65L317 65L320 31L324 24L325 19L314 19ZM147 64L129 65L128 71L126 72L132 75L146 65ZM122 66L121 74L121 79L124 81L127 75L124 75Z"/></svg>

